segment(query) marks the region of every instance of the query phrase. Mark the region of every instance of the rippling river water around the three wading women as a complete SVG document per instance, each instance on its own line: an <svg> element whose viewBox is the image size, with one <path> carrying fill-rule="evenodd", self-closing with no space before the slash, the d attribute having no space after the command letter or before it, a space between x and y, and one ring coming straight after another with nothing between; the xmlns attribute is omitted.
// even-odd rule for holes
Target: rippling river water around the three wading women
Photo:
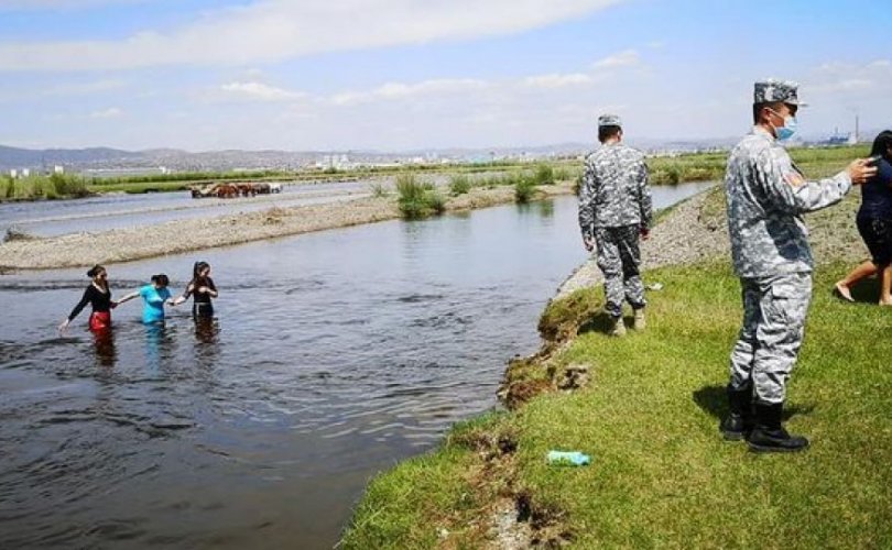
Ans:
<svg viewBox="0 0 892 550"><path fill-rule="evenodd" d="M0 548L330 548L373 474L496 406L584 258L559 197L110 265L120 297L210 262L217 320L134 300L99 340L55 331L83 270L0 276Z"/></svg>

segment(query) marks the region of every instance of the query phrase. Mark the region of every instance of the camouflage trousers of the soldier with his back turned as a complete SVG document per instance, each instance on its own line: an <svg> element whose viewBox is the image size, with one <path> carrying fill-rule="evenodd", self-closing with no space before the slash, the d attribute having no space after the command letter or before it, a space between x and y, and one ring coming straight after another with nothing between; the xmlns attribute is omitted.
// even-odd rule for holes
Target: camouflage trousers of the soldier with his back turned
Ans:
<svg viewBox="0 0 892 550"><path fill-rule="evenodd" d="M598 267L603 273L603 292L607 297L605 309L612 317L622 316L623 297L634 309L641 309L646 305L644 284L639 273L641 265L639 232L638 224L595 228Z"/></svg>

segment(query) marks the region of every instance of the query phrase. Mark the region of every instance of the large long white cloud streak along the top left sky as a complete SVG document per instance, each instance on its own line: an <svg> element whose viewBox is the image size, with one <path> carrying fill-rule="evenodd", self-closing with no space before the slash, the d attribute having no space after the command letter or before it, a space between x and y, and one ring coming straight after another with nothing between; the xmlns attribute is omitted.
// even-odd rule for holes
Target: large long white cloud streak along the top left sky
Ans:
<svg viewBox="0 0 892 550"><path fill-rule="evenodd" d="M172 32L144 31L121 41L0 43L0 70L270 63L323 52L512 34L621 1L264 0L206 13Z"/></svg>

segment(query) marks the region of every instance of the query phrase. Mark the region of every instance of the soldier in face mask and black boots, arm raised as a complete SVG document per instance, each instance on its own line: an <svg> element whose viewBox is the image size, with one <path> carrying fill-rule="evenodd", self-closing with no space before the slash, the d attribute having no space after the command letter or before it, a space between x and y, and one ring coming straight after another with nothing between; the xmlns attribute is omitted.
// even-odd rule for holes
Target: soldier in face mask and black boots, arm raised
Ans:
<svg viewBox="0 0 892 550"><path fill-rule="evenodd" d="M875 168L864 161L806 182L779 143L792 136L797 85L755 82L755 127L731 151L725 177L731 256L740 277L743 327L731 351L730 415L720 430L754 451L798 451L808 441L781 425L786 381L812 298L812 251L802 215L834 205Z"/></svg>

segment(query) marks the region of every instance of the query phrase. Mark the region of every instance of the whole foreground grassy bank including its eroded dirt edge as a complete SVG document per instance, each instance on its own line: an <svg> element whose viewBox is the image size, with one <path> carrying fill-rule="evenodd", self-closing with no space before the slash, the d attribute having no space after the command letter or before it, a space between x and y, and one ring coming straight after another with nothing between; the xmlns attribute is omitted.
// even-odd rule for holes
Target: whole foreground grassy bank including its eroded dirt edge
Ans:
<svg viewBox="0 0 892 550"><path fill-rule="evenodd" d="M817 274L790 387L790 428L813 440L805 453L754 455L719 438L738 282L726 262L661 270L646 276L665 285L650 296L648 331L609 339L596 316L513 375L552 387L568 367L587 370L587 387L459 426L438 452L381 475L345 548L492 543L505 498L531 537L575 548L889 548L892 343L879 337L889 312L830 296L847 267ZM861 290L874 298L875 286ZM546 327L587 318L601 292L568 300L551 306ZM592 464L548 466L550 449L583 450Z"/></svg>

